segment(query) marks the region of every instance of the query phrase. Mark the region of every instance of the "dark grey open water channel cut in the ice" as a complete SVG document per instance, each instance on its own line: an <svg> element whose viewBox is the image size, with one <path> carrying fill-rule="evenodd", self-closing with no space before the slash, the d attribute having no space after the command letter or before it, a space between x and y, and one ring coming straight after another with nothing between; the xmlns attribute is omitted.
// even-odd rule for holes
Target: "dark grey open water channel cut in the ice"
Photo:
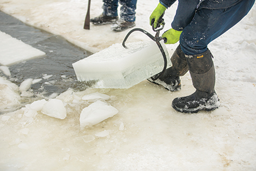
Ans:
<svg viewBox="0 0 256 171"><path fill-rule="evenodd" d="M1 11L0 30L46 53L40 58L11 65L9 67L11 77L0 72L1 77L6 77L20 86L27 78L39 79L45 74L53 75L31 86L34 94L44 92L44 96L50 96L52 93L60 94L69 87L78 86L72 63L92 53L72 45L61 36L28 26Z"/></svg>

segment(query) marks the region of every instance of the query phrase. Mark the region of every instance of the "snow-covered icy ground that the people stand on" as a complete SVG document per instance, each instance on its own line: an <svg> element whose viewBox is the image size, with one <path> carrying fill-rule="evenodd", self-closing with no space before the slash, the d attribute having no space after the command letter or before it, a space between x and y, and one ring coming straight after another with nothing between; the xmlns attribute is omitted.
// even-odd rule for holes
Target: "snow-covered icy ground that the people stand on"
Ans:
<svg viewBox="0 0 256 171"><path fill-rule="evenodd" d="M83 29L87 3L0 0L0 10L62 35L93 53L121 43L129 30L116 33L109 25ZM136 27L153 33L149 16L157 3L138 1ZM92 1L91 17L101 13L101 6L101 0ZM166 30L176 6L164 16ZM144 34L134 33L128 41L148 40ZM179 92L169 92L145 80L128 89L70 89L52 100L54 103L46 99L6 112L0 116L0 170L255 170L255 44L254 5L240 23L209 45L215 57L216 92L221 100L221 107L212 112L191 115L170 106L175 97L194 92L189 74L182 77ZM8 67L1 66L1 70L11 74ZM33 81L15 85L0 78L1 111L21 106L21 91L24 94ZM88 99L92 93L96 94ZM99 97L99 93L108 96ZM98 98L118 113L81 128L83 109L99 103ZM46 102L48 105L42 107ZM48 116L52 111L65 118Z"/></svg>

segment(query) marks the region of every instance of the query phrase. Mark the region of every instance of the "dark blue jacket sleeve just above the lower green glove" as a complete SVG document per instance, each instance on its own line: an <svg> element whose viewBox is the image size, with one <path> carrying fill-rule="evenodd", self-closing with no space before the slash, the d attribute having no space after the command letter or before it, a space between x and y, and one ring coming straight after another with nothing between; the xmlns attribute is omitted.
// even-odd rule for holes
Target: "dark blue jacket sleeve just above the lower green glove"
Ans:
<svg viewBox="0 0 256 171"><path fill-rule="evenodd" d="M172 28L174 30L182 31L191 22L199 2L200 0L179 0L178 8L172 22Z"/></svg>

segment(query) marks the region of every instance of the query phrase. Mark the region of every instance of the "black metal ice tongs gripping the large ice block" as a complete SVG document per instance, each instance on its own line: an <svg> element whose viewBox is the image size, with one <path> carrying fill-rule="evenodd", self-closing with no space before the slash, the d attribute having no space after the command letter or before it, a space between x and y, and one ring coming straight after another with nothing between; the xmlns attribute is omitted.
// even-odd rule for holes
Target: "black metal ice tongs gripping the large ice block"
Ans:
<svg viewBox="0 0 256 171"><path fill-rule="evenodd" d="M152 79L153 81L159 79L159 78L163 75L164 71L166 71L166 68L167 68L166 54L164 53L163 47L162 47L162 45L160 44L160 41L161 41L161 40L164 40L164 42L166 42L166 39L165 39L165 38L162 38L161 36L159 36L160 30L162 30L162 29L164 28L164 24L165 24L165 23L164 23L164 20L163 20L163 15L164 15L164 12L163 12L163 14L161 15L161 17L159 18L159 21L158 21L158 23L157 23L156 29L154 28L154 24L153 24L154 21L153 21L153 23L152 23L152 29L153 29L153 31L156 32L155 36L151 35L151 34L148 33L148 31L146 31L146 30L143 30L143 29L141 29L141 28L135 28L135 29L132 29L131 31L129 31L129 33L127 33L127 35L125 36L125 39L124 39L124 41L123 41L123 43L122 43L123 47L127 49L127 47L125 46L125 42L126 42L126 40L128 39L128 37L130 36L130 34L133 33L134 31L141 31L142 33L144 33L144 34L146 34L147 36L149 36L150 39L152 39L153 41L156 42L157 46L159 47L159 49L160 49L160 51L161 51L161 53L162 53L162 55L163 55L164 67L163 67L163 70L162 70L161 73L159 73L159 74L154 75L153 77L151 77L151 79ZM157 29L157 28L158 28L158 29Z"/></svg>

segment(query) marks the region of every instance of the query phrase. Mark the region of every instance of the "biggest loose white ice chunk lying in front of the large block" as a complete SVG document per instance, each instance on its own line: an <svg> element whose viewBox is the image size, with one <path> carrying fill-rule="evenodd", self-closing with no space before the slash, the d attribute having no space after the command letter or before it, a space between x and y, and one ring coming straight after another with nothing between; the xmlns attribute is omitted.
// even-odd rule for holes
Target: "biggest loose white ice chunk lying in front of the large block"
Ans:
<svg viewBox="0 0 256 171"><path fill-rule="evenodd" d="M106 102L97 100L82 110L80 115L80 127L95 125L117 113L118 110L113 106L108 105Z"/></svg>

